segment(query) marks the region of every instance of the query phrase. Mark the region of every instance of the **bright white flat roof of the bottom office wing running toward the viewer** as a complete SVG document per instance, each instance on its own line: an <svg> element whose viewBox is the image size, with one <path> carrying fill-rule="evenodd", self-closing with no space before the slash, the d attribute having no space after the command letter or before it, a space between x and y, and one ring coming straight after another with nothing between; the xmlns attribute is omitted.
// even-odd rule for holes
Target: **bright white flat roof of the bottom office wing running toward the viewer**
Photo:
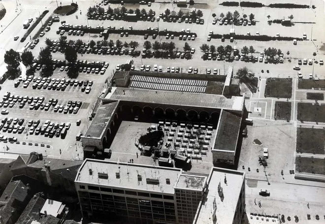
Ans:
<svg viewBox="0 0 325 224"><path fill-rule="evenodd" d="M240 191L245 184L244 180L245 172L212 167L208 177L209 191L203 197L193 223L214 224L212 215L216 207L218 223L232 224ZM219 184L224 194L223 198L219 196Z"/></svg>

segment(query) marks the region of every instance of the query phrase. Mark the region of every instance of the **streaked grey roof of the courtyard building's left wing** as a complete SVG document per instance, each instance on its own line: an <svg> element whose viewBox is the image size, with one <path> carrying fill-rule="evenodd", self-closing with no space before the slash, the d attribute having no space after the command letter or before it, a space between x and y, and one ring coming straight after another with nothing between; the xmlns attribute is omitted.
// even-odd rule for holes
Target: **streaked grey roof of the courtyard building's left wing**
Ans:
<svg viewBox="0 0 325 224"><path fill-rule="evenodd" d="M111 117L114 116L113 114L117 105L118 102L103 102L98 108L84 137L100 138L103 131L109 125Z"/></svg>

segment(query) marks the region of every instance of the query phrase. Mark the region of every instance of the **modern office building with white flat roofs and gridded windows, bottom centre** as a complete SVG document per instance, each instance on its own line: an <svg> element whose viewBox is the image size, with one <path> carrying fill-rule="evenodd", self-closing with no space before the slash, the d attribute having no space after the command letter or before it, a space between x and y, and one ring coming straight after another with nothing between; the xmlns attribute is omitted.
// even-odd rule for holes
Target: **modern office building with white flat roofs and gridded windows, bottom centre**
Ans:
<svg viewBox="0 0 325 224"><path fill-rule="evenodd" d="M75 188L84 217L124 217L132 224L212 220L240 224L244 180L243 172L216 167L204 176L185 174L178 168L86 159Z"/></svg>

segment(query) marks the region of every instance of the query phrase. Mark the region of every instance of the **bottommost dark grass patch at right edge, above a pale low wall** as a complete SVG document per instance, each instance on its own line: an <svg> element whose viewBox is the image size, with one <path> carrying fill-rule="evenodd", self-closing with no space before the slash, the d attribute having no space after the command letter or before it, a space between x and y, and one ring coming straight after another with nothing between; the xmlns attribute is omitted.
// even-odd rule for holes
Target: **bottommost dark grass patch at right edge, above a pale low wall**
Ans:
<svg viewBox="0 0 325 224"><path fill-rule="evenodd" d="M325 159L296 157L295 171L325 175Z"/></svg>

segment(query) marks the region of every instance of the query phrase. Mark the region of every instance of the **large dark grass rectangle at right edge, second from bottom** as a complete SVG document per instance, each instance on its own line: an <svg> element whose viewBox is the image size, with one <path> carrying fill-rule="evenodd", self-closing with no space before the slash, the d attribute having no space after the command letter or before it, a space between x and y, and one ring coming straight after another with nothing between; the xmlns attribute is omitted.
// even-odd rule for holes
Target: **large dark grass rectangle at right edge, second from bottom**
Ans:
<svg viewBox="0 0 325 224"><path fill-rule="evenodd" d="M325 154L325 129L297 128L297 153Z"/></svg>

